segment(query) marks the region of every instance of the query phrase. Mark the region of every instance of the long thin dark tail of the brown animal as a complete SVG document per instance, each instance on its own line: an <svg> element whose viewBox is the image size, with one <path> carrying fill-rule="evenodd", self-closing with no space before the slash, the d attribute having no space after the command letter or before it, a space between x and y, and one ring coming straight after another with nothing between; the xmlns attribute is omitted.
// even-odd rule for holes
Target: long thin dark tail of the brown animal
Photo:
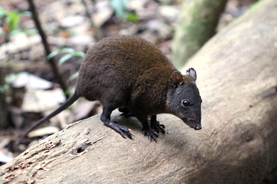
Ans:
<svg viewBox="0 0 277 184"><path fill-rule="evenodd" d="M22 139L24 139L25 136L27 136L27 134L32 131L34 128L36 128L38 125L40 125L42 122L49 120L50 118L56 116L57 114L59 114L61 111L63 111L64 109L68 108L70 105L72 105L79 97L77 96L76 93L74 93L74 95L72 97L70 97L68 100L66 100L58 109L56 109L55 111L53 111L51 114L41 118L40 120L38 120L37 122L35 122L31 127L29 127L29 129L27 129L16 141L15 141L15 146L19 145L19 143L22 141Z"/></svg>

